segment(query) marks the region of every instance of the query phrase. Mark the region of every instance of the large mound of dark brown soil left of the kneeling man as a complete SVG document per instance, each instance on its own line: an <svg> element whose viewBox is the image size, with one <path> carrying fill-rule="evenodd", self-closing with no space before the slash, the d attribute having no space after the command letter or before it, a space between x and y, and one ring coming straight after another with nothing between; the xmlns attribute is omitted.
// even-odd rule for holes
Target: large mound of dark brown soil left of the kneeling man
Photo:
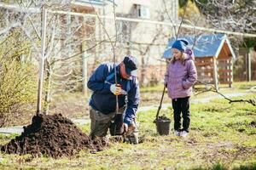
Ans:
<svg viewBox="0 0 256 170"><path fill-rule="evenodd" d="M24 133L3 145L8 154L32 154L36 156L73 156L79 150L102 150L108 143L90 138L69 119L58 115L32 117L32 124L24 127Z"/></svg>

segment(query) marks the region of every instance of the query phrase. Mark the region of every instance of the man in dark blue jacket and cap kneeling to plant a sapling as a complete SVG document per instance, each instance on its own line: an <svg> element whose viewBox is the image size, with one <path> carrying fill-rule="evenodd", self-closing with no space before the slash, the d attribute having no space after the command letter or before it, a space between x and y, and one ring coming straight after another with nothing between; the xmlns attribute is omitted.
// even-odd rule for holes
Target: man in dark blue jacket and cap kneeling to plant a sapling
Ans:
<svg viewBox="0 0 256 170"><path fill-rule="evenodd" d="M127 55L119 65L113 63L100 65L90 77L87 86L93 91L90 99L90 136L92 139L105 137L108 127L114 121L115 125L122 123L121 127L124 130L118 133L126 134L126 138L131 143L137 144L135 118L140 98L136 77L137 66L137 59ZM118 113L116 113L116 95L118 96ZM119 129L113 131L115 130L119 131Z"/></svg>

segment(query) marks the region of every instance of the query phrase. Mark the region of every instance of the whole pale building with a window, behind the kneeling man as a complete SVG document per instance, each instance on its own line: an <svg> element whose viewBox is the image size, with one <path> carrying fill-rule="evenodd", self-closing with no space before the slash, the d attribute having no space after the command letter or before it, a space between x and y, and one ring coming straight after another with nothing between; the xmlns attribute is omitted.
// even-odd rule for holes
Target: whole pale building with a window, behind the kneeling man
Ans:
<svg viewBox="0 0 256 170"><path fill-rule="evenodd" d="M92 8L92 3L94 8ZM170 33L173 31L172 27L152 25L132 20L170 22L166 16L165 4L160 3L158 0L119 0L114 1L114 3L117 17L131 19L116 20L118 35L117 48L115 49L116 60L119 61L125 54L135 55L139 58L141 64L138 71L140 82L146 85L151 82L154 84L154 82L161 81L166 71L166 63L160 61L159 57L166 46L168 37L172 35ZM178 1L166 1L166 6L172 21L177 23ZM113 60L113 51L108 36L103 29L104 26L106 31L108 31L109 37L114 42L116 36L115 23L109 19L113 17L113 1L77 0L73 3L73 11L83 12L84 9L90 11L91 14L96 12L98 15L107 17L107 19L101 18L101 20L96 19L95 21L96 42L104 41L100 46L96 47L95 51L91 52L95 57L90 58L88 64L90 67L95 67L96 64L93 63L96 60L98 60L98 63L105 60ZM96 11L93 11L94 9Z"/></svg>

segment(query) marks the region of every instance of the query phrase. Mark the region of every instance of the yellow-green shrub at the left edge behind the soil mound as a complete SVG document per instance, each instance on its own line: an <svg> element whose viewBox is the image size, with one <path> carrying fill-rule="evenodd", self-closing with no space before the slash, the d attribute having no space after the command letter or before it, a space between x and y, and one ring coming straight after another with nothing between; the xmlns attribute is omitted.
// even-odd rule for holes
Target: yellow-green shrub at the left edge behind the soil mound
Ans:
<svg viewBox="0 0 256 170"><path fill-rule="evenodd" d="M30 48L19 36L20 32L14 30L0 41L0 127L11 117L19 117L24 106L36 99L33 65L20 59Z"/></svg>

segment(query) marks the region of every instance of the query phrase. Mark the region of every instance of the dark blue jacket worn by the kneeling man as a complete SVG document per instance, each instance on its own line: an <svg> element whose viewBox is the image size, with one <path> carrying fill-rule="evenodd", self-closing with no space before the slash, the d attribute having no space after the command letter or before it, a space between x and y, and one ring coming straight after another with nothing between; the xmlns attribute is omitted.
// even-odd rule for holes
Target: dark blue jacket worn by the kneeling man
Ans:
<svg viewBox="0 0 256 170"><path fill-rule="evenodd" d="M121 78L119 65L116 65L117 82L122 86L123 90L127 90L127 83L130 81L130 89L128 91L128 103L125 111L124 122L128 126L133 122L135 117L137 106L140 100L139 85L137 77L130 77L129 80ZM90 106L96 111L101 111L103 114L108 115L115 111L116 97L110 91L110 84L105 82L107 77L114 72L113 63L104 63L96 68L93 75L90 77L87 86L93 91L90 99ZM111 84L114 84L114 76L108 80ZM119 95L119 108L125 106L125 95Z"/></svg>

